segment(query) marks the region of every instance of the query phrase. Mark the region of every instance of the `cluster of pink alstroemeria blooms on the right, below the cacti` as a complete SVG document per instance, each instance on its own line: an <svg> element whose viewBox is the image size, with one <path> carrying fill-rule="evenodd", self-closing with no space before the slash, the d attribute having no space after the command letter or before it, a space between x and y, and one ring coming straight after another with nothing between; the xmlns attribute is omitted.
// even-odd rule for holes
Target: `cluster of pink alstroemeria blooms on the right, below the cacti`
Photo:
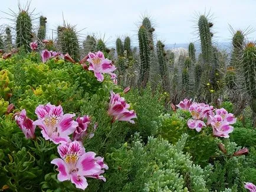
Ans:
<svg viewBox="0 0 256 192"><path fill-rule="evenodd" d="M224 108L215 109L213 106L204 103L185 99L176 106L191 112L192 119L187 122L189 128L199 132L206 125L211 125L213 135L216 137L228 138L228 134L234 130L231 124L237 121L234 114L228 113Z"/></svg>

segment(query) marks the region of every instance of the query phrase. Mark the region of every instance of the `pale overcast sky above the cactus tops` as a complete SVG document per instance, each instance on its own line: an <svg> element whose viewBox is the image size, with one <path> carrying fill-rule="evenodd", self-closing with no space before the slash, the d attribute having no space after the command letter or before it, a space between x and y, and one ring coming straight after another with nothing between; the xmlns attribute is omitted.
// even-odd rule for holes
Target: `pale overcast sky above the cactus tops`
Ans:
<svg viewBox="0 0 256 192"><path fill-rule="evenodd" d="M20 0L25 5L27 0ZM166 44L188 43L198 39L195 32L197 14L211 12L214 35L218 41L232 38L230 24L234 29L256 28L255 0L32 0L30 9L34 14L47 17L47 35L65 21L77 25L81 39L88 34L104 38L113 44L117 37L129 35L136 44L137 30L143 15L150 15L157 39ZM18 11L18 1L8 0L0 10ZM8 24L9 15L0 12L0 24ZM39 22L35 21L36 23ZM256 32L248 35L256 39Z"/></svg>

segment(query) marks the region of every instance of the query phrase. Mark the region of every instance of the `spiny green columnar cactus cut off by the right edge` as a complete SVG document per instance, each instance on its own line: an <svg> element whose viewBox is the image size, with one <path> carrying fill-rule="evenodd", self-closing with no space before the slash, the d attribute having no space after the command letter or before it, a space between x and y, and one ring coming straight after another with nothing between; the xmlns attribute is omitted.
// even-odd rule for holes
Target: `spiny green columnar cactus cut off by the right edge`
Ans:
<svg viewBox="0 0 256 192"><path fill-rule="evenodd" d="M242 55L242 67L244 69L245 85L248 94L251 96L251 108L253 110L253 123L256 127L256 46L255 43L249 42Z"/></svg>

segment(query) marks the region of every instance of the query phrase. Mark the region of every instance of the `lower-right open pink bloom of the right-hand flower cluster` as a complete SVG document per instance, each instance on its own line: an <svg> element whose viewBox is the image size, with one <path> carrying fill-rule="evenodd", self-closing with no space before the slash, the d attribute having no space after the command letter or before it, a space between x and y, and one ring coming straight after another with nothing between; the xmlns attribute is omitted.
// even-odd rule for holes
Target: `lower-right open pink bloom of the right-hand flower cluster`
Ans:
<svg viewBox="0 0 256 192"><path fill-rule="evenodd" d="M213 129L213 134L218 137L228 138L229 133L234 130L234 127L229 125L227 121L225 121L221 115L215 115L214 117L211 116L211 125Z"/></svg>

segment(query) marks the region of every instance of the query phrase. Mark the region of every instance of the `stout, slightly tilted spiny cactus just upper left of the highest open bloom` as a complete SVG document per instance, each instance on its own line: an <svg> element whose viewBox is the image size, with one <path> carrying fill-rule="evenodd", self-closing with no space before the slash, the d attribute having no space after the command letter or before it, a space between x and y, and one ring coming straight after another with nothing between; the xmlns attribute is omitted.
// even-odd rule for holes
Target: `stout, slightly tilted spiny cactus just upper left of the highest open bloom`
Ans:
<svg viewBox="0 0 256 192"><path fill-rule="evenodd" d="M79 44L77 38L77 32L74 27L70 25L64 25L64 27L58 27L58 39L61 45L62 52L70 54L70 56L78 61L80 59Z"/></svg>

